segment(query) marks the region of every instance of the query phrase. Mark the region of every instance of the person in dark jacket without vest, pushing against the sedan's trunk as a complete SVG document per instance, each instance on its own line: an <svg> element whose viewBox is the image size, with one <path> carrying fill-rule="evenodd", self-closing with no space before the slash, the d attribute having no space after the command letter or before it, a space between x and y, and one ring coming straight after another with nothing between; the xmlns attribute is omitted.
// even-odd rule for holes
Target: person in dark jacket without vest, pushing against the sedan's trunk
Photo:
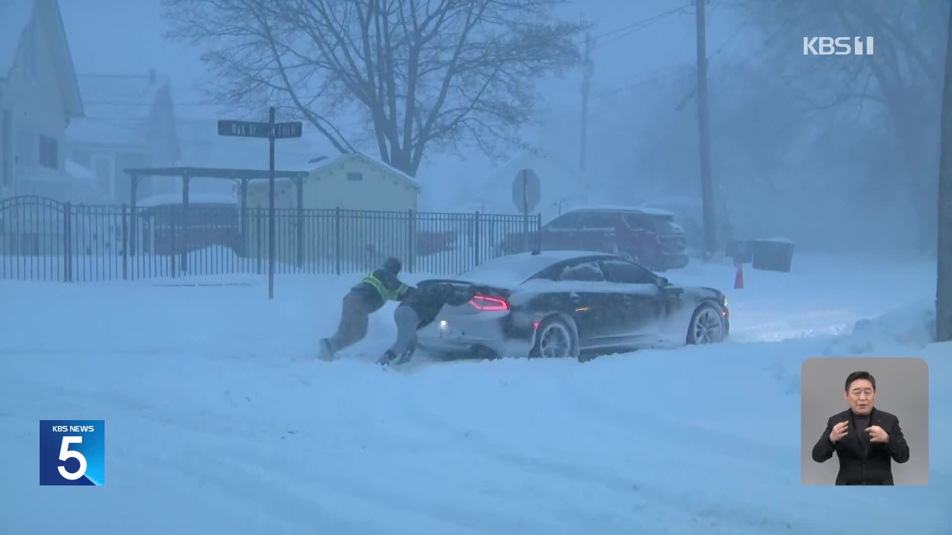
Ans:
<svg viewBox="0 0 952 535"><path fill-rule="evenodd" d="M378 364L406 363L416 350L417 331L431 324L444 305L464 305L473 295L475 291L471 287L460 288L447 283L408 288L400 305L393 311L397 340L384 352Z"/></svg>

